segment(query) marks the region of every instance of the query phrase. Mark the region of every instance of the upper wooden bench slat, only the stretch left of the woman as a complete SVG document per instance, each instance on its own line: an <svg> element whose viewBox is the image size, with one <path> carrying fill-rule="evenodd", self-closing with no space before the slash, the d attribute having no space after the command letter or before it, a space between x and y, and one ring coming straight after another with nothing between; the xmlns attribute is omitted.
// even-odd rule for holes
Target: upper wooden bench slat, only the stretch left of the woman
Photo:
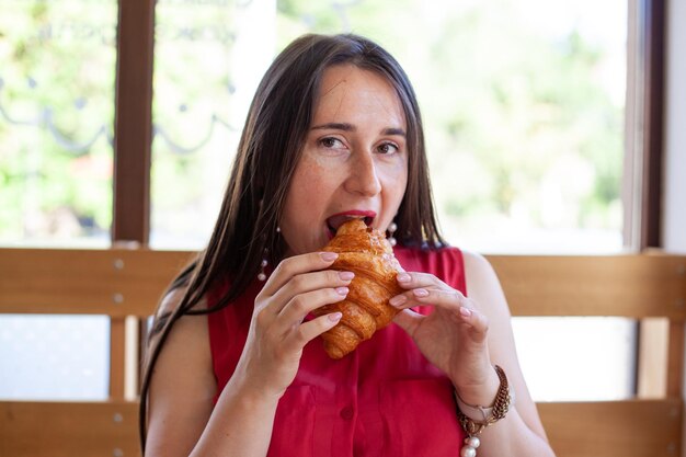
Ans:
<svg viewBox="0 0 686 457"><path fill-rule="evenodd" d="M0 250L0 313L149 316L190 252Z"/></svg>

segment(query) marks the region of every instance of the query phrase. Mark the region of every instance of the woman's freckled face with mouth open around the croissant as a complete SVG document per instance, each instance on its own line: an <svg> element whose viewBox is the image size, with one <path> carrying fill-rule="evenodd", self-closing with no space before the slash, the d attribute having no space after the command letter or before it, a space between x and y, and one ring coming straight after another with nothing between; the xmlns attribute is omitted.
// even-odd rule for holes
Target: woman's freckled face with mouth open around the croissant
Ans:
<svg viewBox="0 0 686 457"><path fill-rule="evenodd" d="M405 134L382 77L352 65L325 70L279 221L288 255L321 249L351 217L388 228L408 182Z"/></svg>

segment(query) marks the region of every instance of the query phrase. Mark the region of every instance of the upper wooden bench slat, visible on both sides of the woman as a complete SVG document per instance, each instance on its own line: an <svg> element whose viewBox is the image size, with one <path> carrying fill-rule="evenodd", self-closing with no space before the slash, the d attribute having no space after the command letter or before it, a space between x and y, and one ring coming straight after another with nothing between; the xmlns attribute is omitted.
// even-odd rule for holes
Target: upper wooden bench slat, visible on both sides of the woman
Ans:
<svg viewBox="0 0 686 457"><path fill-rule="evenodd" d="M192 253L0 250L0 312L147 316ZM686 317L686 256L491 255L514 316Z"/></svg>

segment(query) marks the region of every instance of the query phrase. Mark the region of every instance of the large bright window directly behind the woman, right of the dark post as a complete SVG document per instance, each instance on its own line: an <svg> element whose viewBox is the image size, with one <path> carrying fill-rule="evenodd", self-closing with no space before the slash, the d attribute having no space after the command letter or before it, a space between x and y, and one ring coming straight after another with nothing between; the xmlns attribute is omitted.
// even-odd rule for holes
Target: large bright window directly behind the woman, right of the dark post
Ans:
<svg viewBox="0 0 686 457"><path fill-rule="evenodd" d="M625 0L161 1L157 18L153 247L205 243L264 56L301 33L352 31L379 41L410 75L451 243L484 253L624 248ZM551 379L537 349L580 354L574 335L587 325L616 344L570 363L607 372L607 385L579 390ZM538 399L631 396L634 330L621 319L515 320L521 352L540 355L523 361Z"/></svg>

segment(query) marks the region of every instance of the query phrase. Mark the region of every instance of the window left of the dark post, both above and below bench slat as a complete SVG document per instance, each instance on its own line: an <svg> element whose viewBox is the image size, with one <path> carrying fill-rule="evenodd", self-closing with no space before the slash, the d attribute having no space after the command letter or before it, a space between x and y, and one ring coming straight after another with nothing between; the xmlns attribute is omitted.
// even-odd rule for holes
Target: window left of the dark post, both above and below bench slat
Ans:
<svg viewBox="0 0 686 457"><path fill-rule="evenodd" d="M110 244L116 18L115 0L0 5L0 244ZM107 334L0 316L0 397L106 398Z"/></svg>

